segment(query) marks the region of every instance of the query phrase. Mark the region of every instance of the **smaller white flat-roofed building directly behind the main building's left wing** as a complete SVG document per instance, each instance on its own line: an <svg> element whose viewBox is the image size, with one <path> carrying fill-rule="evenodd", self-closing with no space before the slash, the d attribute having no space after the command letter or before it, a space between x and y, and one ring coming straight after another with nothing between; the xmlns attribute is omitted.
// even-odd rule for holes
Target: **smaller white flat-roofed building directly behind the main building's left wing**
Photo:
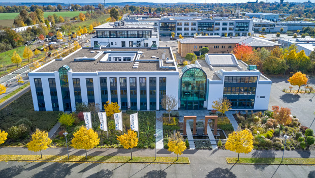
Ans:
<svg viewBox="0 0 315 178"><path fill-rule="evenodd" d="M96 36L90 39L92 47L96 44L111 48L159 46L159 32L154 30L153 23L117 21L94 29Z"/></svg>

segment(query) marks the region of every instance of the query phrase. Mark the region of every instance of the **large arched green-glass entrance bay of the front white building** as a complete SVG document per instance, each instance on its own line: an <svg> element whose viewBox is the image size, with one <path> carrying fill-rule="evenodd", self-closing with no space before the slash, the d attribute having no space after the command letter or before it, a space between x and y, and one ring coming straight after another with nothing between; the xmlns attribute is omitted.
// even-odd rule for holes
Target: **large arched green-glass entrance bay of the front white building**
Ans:
<svg viewBox="0 0 315 178"><path fill-rule="evenodd" d="M181 71L180 107L202 109L207 97L207 75L197 65L188 65Z"/></svg>

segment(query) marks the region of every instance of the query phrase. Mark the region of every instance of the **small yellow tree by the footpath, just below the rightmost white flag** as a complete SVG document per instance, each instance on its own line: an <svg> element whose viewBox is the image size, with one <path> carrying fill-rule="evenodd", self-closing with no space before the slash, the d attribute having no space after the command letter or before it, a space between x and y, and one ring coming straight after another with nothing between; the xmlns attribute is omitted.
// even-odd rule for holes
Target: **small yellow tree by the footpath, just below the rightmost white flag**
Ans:
<svg viewBox="0 0 315 178"><path fill-rule="evenodd" d="M132 159L132 148L138 145L137 133L131 129L128 130L128 134L123 134L117 137L120 144L124 149L130 149Z"/></svg>

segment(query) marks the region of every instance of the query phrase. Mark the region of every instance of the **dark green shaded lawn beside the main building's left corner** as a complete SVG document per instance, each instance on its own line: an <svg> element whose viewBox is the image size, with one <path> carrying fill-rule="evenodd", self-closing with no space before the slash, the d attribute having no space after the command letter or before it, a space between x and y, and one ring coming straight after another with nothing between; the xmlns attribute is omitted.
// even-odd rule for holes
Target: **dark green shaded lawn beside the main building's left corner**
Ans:
<svg viewBox="0 0 315 178"><path fill-rule="evenodd" d="M0 110L0 129L8 130L21 118L31 122L31 130L39 128L49 131L58 121L59 111L34 111L30 91Z"/></svg>

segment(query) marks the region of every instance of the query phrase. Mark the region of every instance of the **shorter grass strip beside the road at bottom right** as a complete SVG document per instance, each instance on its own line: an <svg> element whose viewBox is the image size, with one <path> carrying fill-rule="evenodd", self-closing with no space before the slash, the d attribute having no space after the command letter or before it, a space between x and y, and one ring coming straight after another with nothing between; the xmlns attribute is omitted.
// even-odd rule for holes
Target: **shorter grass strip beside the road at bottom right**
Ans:
<svg viewBox="0 0 315 178"><path fill-rule="evenodd" d="M226 158L228 164L287 164L287 165L315 165L315 158Z"/></svg>

